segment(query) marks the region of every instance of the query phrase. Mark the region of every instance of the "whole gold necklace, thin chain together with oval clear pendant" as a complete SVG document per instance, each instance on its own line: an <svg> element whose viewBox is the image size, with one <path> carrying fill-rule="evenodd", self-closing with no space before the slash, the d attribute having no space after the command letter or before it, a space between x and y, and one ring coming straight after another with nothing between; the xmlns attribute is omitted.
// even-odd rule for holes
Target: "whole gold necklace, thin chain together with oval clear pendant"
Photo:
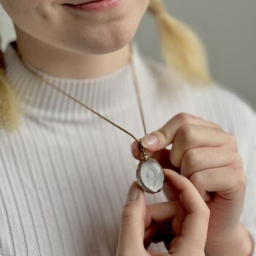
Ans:
<svg viewBox="0 0 256 256"><path fill-rule="evenodd" d="M16 50L18 53L18 57L20 58L20 61L22 61L24 67L28 69L31 73L33 73L37 78L40 80L43 80L48 86L53 87L53 89L56 89L59 91L61 94L64 94L65 96L69 97L69 99L74 100L77 102L79 105L82 105L84 108L90 110L91 112L95 113L97 116L103 118L105 121L108 121L110 124L113 124L113 126L117 127L118 129L121 129L123 132L127 133L129 136L131 136L133 139L138 141L140 143L140 139L136 138L132 133L128 132L126 129L119 127L117 124L113 123L113 121L110 121L108 118L105 118L105 116L102 116L101 114L97 113L95 110L89 108L89 106L83 104L83 102L80 102L78 99L75 99L71 95L67 94L65 91L62 91L59 89L55 84L50 83L50 81L46 80L45 78L42 77L42 75L39 75L37 72L35 72L33 69L31 69L25 61L23 61L23 57L18 50L18 45L17 42L11 42L12 47ZM137 80L137 75L135 72L135 67L134 67L134 61L132 59L133 53L132 53L132 47L129 45L129 66L132 70L132 79L135 85L135 91L138 99L138 105L140 108L140 116L143 121L143 129L146 135L146 126L145 126L145 121L143 118L143 110L142 110L142 104L141 104L141 99L140 99L140 91L138 88L138 80ZM136 177L138 184L140 187L148 193L154 194L159 191L161 191L164 181L165 181L165 176L164 176L164 171L162 170L161 165L159 165L159 162L153 158L149 158L146 154L145 148L141 145L140 143L140 151L143 153L140 162L137 167L136 171Z"/></svg>

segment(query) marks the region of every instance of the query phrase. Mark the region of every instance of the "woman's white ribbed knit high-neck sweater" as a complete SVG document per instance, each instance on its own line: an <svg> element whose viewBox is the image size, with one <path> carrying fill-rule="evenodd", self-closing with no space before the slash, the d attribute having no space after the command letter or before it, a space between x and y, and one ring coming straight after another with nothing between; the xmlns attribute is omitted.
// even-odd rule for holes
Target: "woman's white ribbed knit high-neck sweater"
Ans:
<svg viewBox="0 0 256 256"><path fill-rule="evenodd" d="M214 121L236 135L247 176L242 221L256 237L256 116L221 86L192 87L132 47L147 132L180 112ZM132 138L39 80L11 45L7 78L23 101L18 132L0 131L0 248L2 255L115 255L119 218L138 160ZM128 64L89 80L45 78L143 137ZM148 204L166 200L146 195ZM151 249L164 246L154 245Z"/></svg>

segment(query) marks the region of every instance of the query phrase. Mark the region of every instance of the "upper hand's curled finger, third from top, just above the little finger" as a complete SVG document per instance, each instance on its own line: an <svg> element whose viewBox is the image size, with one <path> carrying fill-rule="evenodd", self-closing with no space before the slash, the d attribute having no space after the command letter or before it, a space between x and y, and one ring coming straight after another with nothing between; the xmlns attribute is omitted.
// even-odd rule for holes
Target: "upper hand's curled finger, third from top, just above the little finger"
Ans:
<svg viewBox="0 0 256 256"><path fill-rule="evenodd" d="M185 151L181 162L181 175L189 178L199 170L217 167L243 167L241 157L237 152L225 148L191 148Z"/></svg>

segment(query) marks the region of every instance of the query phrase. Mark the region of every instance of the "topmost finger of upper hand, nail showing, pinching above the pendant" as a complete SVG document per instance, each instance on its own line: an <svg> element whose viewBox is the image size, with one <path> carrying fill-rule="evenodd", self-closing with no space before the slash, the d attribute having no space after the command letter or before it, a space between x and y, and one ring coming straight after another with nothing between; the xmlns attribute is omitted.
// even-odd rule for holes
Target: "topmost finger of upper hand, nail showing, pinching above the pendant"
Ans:
<svg viewBox="0 0 256 256"><path fill-rule="evenodd" d="M210 121L205 121L202 118L192 116L187 113L179 113L171 118L170 121L167 121L167 123L157 131L144 136L141 143L145 148L150 148L151 151L159 151L173 142L178 129L180 129L184 124L197 124L222 130L221 127Z"/></svg>

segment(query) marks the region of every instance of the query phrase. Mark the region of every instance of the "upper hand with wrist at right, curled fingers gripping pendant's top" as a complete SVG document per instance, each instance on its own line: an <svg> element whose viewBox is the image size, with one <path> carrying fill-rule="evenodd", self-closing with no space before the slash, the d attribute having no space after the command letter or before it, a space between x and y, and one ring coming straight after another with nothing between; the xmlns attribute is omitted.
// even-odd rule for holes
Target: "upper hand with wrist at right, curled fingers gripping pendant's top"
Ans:
<svg viewBox="0 0 256 256"><path fill-rule="evenodd" d="M239 219L246 178L236 138L219 125L180 113L141 140L148 157L189 178L211 211L207 255L249 255L251 239ZM172 144L171 150L165 147ZM138 143L132 154L140 159ZM167 193L168 194L168 193Z"/></svg>

